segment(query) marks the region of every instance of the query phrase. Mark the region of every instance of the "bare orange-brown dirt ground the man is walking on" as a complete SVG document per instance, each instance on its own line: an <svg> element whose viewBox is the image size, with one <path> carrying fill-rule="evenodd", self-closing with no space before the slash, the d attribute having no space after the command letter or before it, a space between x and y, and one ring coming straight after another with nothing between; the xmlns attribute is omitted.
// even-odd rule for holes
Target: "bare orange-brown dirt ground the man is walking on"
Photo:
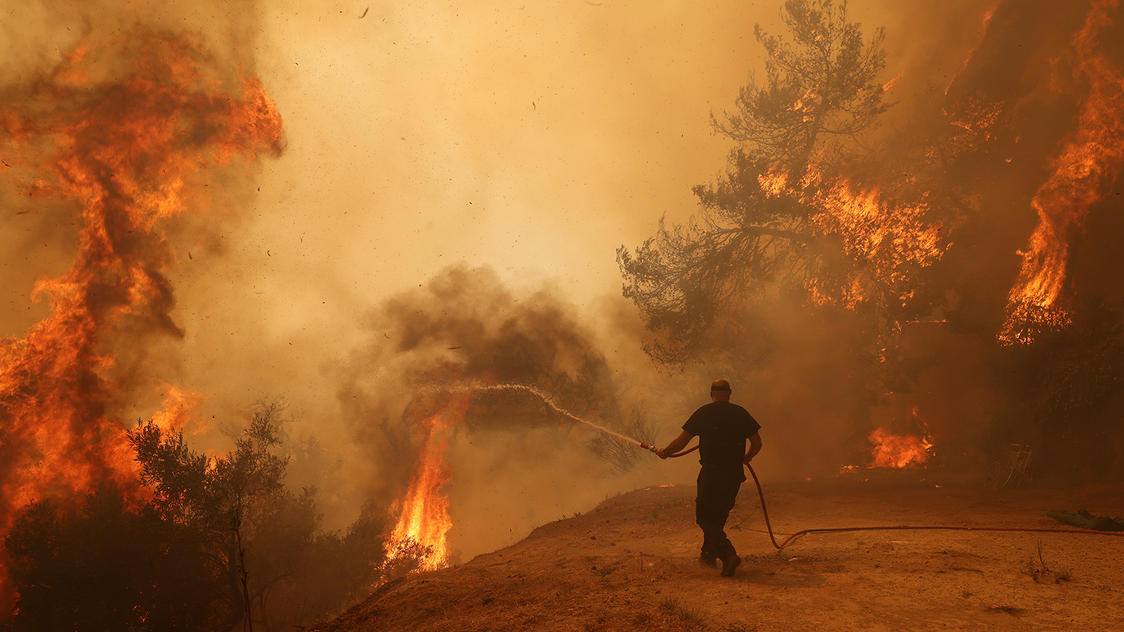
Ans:
<svg viewBox="0 0 1124 632"><path fill-rule="evenodd" d="M977 477L863 470L765 482L773 529L1062 527L1124 514L1124 489L985 489ZM1124 538L889 531L805 535L777 552L752 479L727 533L736 577L697 563L694 486L645 488L526 540L377 590L317 632L1124 630Z"/></svg>

